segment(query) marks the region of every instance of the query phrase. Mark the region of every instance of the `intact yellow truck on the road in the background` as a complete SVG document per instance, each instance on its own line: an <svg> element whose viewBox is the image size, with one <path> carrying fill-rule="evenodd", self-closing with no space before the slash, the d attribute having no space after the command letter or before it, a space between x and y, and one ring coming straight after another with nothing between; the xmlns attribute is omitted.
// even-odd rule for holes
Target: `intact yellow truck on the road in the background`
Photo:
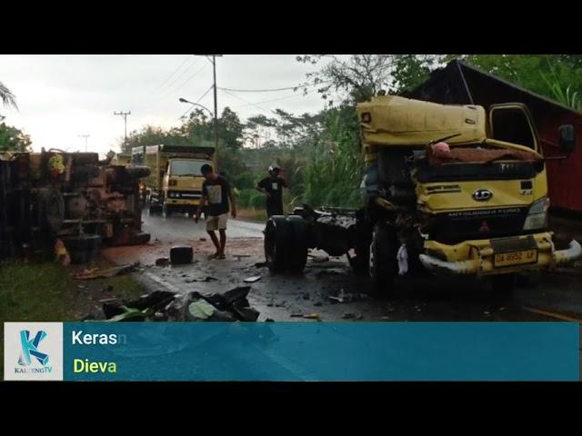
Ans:
<svg viewBox="0 0 582 436"><path fill-rule="evenodd" d="M146 165L151 170L144 186L150 214L193 216L202 197L204 177L200 169L205 163L216 168L215 149L166 144L134 147L132 163Z"/></svg>

